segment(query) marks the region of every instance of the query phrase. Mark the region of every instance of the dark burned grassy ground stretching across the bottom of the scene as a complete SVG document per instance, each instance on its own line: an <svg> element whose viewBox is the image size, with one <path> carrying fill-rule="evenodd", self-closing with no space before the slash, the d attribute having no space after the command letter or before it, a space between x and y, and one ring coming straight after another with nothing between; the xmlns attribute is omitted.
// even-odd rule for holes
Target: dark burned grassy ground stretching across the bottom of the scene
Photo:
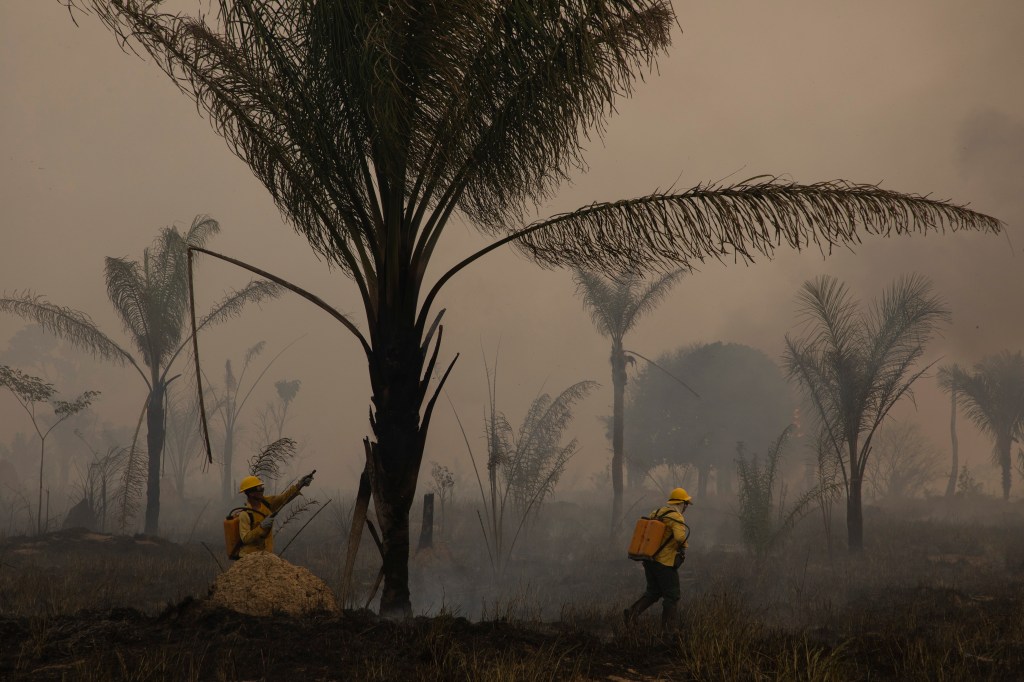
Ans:
<svg viewBox="0 0 1024 682"><path fill-rule="evenodd" d="M1020 679L1022 524L1016 511L998 518L876 518L857 557L828 557L811 534L763 563L694 548L684 622L670 637L656 608L624 630L622 608L642 581L631 562L600 553L549 566L547 580L534 574L479 619L441 605L391 622L351 607L256 616L218 606L209 596L222 566L199 544L85 531L10 538L0 543L0 678ZM293 560L335 585L337 557L314 560L324 547ZM445 552L423 563L449 570L460 551ZM479 579L462 567L444 574ZM550 606L557 595L555 617L530 601Z"/></svg>

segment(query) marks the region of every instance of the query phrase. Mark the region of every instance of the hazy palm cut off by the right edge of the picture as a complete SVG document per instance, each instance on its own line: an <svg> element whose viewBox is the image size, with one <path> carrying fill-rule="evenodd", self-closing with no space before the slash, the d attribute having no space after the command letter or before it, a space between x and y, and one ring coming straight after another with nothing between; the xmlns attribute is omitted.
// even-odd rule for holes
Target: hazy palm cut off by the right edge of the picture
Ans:
<svg viewBox="0 0 1024 682"><path fill-rule="evenodd" d="M956 365L946 370L959 408L993 440L992 459L1002 471L1002 498L1009 500L1011 451L1015 440L1024 439L1024 354L1004 350L986 355L974 372Z"/></svg>

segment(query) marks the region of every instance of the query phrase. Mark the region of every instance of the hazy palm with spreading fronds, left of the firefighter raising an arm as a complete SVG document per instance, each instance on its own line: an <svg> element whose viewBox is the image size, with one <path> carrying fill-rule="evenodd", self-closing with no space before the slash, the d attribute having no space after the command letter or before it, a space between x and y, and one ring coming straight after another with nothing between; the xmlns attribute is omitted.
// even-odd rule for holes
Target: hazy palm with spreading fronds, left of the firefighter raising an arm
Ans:
<svg viewBox="0 0 1024 682"><path fill-rule="evenodd" d="M121 317L124 331L137 355L115 342L78 310L44 300L31 292L0 297L0 311L11 312L42 326L48 332L96 357L135 368L145 382L143 413L146 420L146 506L145 532L156 535L160 519L160 465L164 451L167 385L174 361L188 344L185 335L189 309L188 245L202 246L220 230L215 220L198 216L185 235L176 227L160 230L153 246L142 252L142 260L106 258L106 295ZM280 288L256 281L227 294L204 316L201 327L237 314L248 302L276 296ZM143 369L144 368L144 369ZM134 446L132 449L134 454ZM131 468L137 466L133 461Z"/></svg>

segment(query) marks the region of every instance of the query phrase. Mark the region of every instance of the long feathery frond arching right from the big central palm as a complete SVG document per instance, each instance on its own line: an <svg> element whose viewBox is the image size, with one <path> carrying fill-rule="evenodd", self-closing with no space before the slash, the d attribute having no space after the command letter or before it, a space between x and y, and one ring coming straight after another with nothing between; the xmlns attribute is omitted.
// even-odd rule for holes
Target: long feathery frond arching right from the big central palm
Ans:
<svg viewBox="0 0 1024 682"><path fill-rule="evenodd" d="M625 271L709 259L753 262L781 246L828 254L868 235L946 229L998 232L1000 223L963 206L872 184L755 178L592 204L528 225L516 244L545 265Z"/></svg>

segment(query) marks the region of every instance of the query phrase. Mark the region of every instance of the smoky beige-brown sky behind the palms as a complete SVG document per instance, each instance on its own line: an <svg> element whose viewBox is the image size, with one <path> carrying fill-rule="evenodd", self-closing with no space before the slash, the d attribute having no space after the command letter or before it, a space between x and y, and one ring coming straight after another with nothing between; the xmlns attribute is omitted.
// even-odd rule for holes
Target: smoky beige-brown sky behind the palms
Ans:
<svg viewBox="0 0 1024 682"><path fill-rule="evenodd" d="M815 252L750 267L709 264L645 319L628 348L655 356L724 340L778 357L795 322L794 294L808 278L830 272L869 298L908 271L931 278L953 310L954 324L929 359L972 364L1024 346L1024 2L731 0L675 7L682 32L658 72L621 102L602 138L591 141L589 172L543 213L773 174L932 194L995 215L1008 230L874 240L828 259ZM222 226L211 248L357 312L350 282L329 271L284 224L262 185L195 106L154 65L124 54L95 19L80 25L55 0L0 2L0 290L44 293L124 339L105 298L103 257L138 258L158 228L184 227L208 214ZM470 226L454 223L438 267L481 244ZM208 301L246 281L229 268L200 263L198 288ZM574 298L569 274L539 269L511 252L495 254L459 275L439 304L447 308L441 361L461 353L449 394L477 454L486 399L482 354L493 358L499 345L499 407L515 423L542 389L560 391L581 379L603 384L571 428L582 452L565 481L590 484L590 473L608 459L595 419L610 410L608 342ZM0 316L0 349L23 326ZM301 335L264 388L280 378L302 380L292 435L307 442L312 466L354 492L351 475L361 468L360 439L369 432L366 367L350 335L328 315L296 298L254 308L203 335L206 371L219 376L225 357L238 363L262 339L268 358ZM97 381L86 387L103 391L103 416L132 421L143 397L138 377L110 370ZM933 386L921 384L911 416L945 453L948 407ZM4 440L26 427L15 410L0 396ZM994 480L987 443L964 438L962 456ZM430 461L469 471L443 399L426 467Z"/></svg>

